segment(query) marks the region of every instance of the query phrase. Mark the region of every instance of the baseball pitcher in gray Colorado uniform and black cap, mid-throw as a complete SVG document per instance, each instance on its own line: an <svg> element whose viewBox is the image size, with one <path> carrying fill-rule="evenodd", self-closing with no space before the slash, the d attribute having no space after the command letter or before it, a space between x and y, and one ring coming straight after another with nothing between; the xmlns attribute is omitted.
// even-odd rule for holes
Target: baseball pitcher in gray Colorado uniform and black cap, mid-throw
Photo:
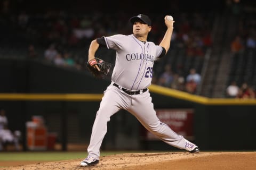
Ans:
<svg viewBox="0 0 256 170"><path fill-rule="evenodd" d="M133 24L132 35L114 35L101 37L91 42L89 47L89 66L101 71L95 52L100 46L116 51L116 61L111 83L104 91L99 110L92 128L88 156L80 165L91 166L99 163L100 147L107 132L107 122L120 109L134 115L151 133L167 144L198 153L199 148L178 135L165 123L159 121L151 101L148 87L153 77L153 65L156 58L164 57L170 48L173 31L173 18L164 18L167 27L159 45L147 41L151 31L151 20L147 15L139 14L130 18Z"/></svg>

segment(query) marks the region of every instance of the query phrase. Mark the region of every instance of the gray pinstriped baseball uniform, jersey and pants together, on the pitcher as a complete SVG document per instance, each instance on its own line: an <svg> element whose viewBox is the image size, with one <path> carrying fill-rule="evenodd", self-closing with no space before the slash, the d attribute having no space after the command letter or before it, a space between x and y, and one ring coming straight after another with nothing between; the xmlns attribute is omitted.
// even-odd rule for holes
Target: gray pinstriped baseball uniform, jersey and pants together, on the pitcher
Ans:
<svg viewBox="0 0 256 170"><path fill-rule="evenodd" d="M104 91L95 117L90 145L87 148L88 156L99 159L107 122L120 109L133 114L148 131L169 145L193 150L196 147L194 143L178 135L158 119L149 91L141 91L150 85L154 61L162 55L163 47L148 41L143 43L134 35L115 35L104 39L103 44L107 48L116 50L116 64L112 81ZM129 90L139 90L139 93L132 94Z"/></svg>

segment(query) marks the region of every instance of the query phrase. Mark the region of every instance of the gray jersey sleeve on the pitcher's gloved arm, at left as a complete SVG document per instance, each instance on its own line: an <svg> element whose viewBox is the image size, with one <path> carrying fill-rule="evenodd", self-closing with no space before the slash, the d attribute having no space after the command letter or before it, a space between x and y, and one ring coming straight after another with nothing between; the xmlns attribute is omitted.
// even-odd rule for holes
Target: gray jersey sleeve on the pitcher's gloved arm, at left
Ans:
<svg viewBox="0 0 256 170"><path fill-rule="evenodd" d="M108 49L119 50L122 48L122 41L124 42L124 35L114 35L104 37Z"/></svg>

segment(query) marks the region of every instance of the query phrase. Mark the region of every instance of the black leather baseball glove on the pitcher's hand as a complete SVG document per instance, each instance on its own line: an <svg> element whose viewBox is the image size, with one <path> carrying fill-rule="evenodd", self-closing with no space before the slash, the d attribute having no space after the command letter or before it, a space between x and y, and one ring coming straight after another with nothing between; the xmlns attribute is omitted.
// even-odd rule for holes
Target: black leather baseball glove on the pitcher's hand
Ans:
<svg viewBox="0 0 256 170"><path fill-rule="evenodd" d="M100 71L97 69L96 65L99 67ZM109 74L113 64L95 57L86 63L86 67L95 78L104 79Z"/></svg>

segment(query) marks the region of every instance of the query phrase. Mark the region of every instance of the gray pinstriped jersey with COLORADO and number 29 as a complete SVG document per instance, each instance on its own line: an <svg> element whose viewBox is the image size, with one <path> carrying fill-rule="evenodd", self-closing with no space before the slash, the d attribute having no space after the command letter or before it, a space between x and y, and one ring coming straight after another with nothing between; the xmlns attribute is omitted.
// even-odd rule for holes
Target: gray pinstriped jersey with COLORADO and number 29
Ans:
<svg viewBox="0 0 256 170"><path fill-rule="evenodd" d="M153 76L153 64L163 48L152 42L142 43L134 35L105 37L107 48L116 50L112 80L130 90L147 88Z"/></svg>

